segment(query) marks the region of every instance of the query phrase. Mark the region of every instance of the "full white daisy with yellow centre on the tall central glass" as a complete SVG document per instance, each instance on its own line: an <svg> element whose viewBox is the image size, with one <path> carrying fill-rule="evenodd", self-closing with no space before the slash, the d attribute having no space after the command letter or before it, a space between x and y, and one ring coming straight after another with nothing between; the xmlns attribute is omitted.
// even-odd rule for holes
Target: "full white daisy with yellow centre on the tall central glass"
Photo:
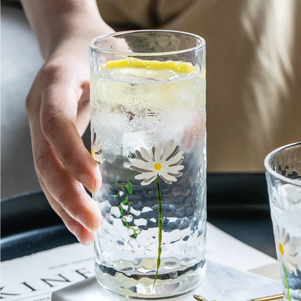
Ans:
<svg viewBox="0 0 301 301"><path fill-rule="evenodd" d="M158 147L153 146L151 154L144 147L140 151L136 151L136 158L129 159L133 164L130 169L140 172L135 176L137 180L143 180L141 185L145 186L153 182L157 176L166 183L171 184L176 182L177 178L182 175L183 165L180 165L183 160L183 151L179 151L180 146L174 146L174 141L171 140L166 147L166 150L161 157L162 143Z"/></svg>

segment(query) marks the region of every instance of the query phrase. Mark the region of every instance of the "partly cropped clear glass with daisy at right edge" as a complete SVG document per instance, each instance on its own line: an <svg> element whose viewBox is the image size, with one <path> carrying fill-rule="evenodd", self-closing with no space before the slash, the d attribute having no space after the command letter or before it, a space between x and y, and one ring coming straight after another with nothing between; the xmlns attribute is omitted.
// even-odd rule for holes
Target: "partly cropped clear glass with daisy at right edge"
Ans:
<svg viewBox="0 0 301 301"><path fill-rule="evenodd" d="M276 251L285 300L301 300L301 142L265 158Z"/></svg>

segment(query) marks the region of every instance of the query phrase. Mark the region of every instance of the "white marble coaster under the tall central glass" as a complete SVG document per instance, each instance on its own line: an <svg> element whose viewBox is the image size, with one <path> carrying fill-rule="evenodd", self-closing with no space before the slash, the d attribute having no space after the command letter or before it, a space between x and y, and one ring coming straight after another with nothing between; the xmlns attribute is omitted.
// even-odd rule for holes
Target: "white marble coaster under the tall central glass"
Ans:
<svg viewBox="0 0 301 301"><path fill-rule="evenodd" d="M246 301L270 296L281 292L279 281L271 280L250 272L241 272L234 268L207 262L205 281L194 291L173 298L175 301L193 301L193 294L208 300ZM52 293L52 301L124 301L129 300L106 292L95 277L73 284ZM171 299L168 299L171 300Z"/></svg>

